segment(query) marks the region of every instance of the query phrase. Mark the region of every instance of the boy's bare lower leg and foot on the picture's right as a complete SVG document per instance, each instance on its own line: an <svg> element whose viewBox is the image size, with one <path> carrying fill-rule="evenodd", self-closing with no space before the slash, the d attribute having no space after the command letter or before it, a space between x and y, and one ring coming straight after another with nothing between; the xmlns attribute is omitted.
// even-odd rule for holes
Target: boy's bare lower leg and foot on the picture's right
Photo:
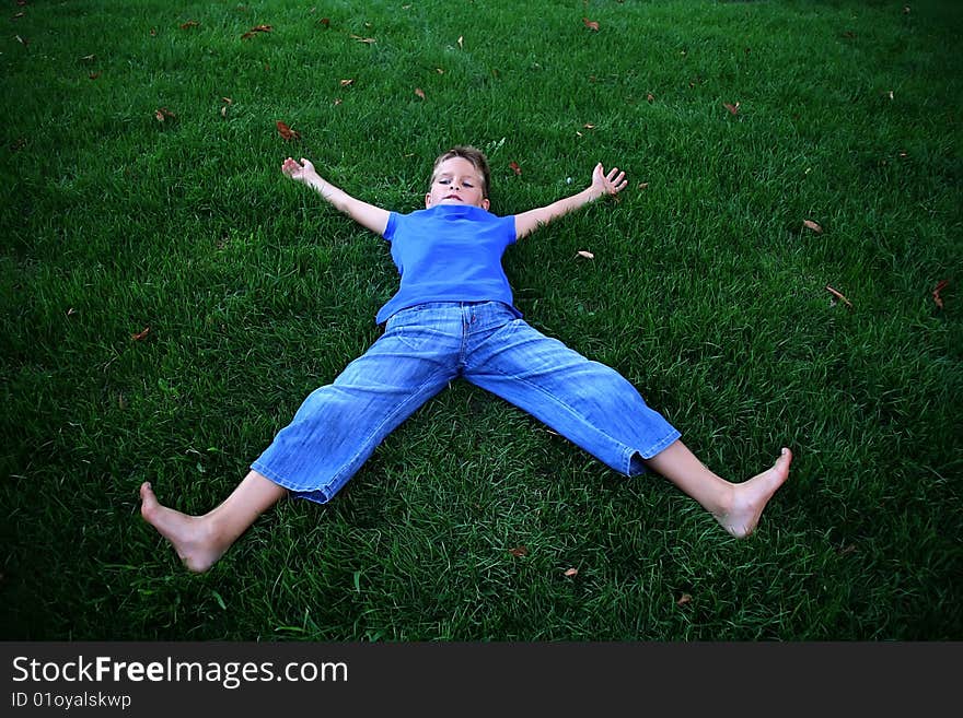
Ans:
<svg viewBox="0 0 963 718"><path fill-rule="evenodd" d="M766 504L789 478L792 451L782 455L768 469L742 483L716 475L682 442L675 442L646 464L695 498L716 517L729 533L747 537L755 530Z"/></svg>

